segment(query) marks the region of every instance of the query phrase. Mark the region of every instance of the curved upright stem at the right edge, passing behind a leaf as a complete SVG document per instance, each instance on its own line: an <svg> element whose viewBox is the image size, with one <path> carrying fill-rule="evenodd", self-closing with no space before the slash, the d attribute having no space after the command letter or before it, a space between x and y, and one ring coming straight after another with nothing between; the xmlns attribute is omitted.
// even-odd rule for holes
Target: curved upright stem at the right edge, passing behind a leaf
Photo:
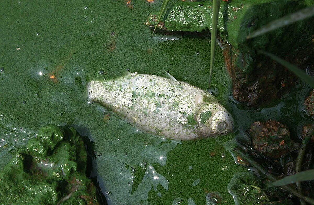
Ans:
<svg viewBox="0 0 314 205"><path fill-rule="evenodd" d="M314 132L314 125L312 125L310 127L310 129L307 131L307 133L306 133L306 135L305 135L305 137L304 137L304 139L302 141L302 145L301 145L301 148L299 150L299 154L298 154L298 156L296 158L296 163L295 163L295 171L296 171L296 173L301 171L301 166L302 166L303 158L304 158L304 155L305 155L305 152L306 152L306 148L307 148L308 143L311 140L313 132ZM297 187L297 189L298 189L298 191L300 193L303 193L302 183L301 182L296 182L296 187ZM305 205L306 204L302 199L300 199L300 202L301 202L301 205Z"/></svg>

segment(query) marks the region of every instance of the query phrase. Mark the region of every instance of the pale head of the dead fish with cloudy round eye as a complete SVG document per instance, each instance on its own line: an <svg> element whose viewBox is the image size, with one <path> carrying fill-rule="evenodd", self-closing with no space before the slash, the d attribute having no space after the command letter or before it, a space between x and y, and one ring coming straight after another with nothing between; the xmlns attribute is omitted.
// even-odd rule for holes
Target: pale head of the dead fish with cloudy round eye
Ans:
<svg viewBox="0 0 314 205"><path fill-rule="evenodd" d="M198 135L213 137L226 134L234 129L230 113L219 103L204 103L195 115L198 124Z"/></svg>

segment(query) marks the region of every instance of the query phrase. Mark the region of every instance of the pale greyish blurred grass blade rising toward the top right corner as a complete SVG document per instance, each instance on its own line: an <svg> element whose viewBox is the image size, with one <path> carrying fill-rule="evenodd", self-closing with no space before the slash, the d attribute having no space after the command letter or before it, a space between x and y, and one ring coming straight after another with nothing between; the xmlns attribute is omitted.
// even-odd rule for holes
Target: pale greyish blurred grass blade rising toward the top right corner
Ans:
<svg viewBox="0 0 314 205"><path fill-rule="evenodd" d="M274 21L271 21L270 23L263 26L262 28L254 31L250 35L247 35L246 39L255 38L256 36L265 34L269 31L272 31L274 29L278 29L278 28L283 27L285 25L293 24L299 20L306 19L306 18L309 18L311 16L314 16L314 6L306 7L300 11L288 14L288 15L280 18L280 19L276 19Z"/></svg>

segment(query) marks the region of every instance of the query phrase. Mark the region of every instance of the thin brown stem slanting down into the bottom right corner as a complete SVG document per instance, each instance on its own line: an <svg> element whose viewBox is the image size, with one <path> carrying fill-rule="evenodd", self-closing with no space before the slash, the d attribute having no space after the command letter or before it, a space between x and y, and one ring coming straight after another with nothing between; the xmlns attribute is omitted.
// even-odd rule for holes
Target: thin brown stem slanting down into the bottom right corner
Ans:
<svg viewBox="0 0 314 205"><path fill-rule="evenodd" d="M243 154L241 151L236 150L235 151L236 154L240 155L240 157L242 159L244 159L245 161L247 161L248 163L250 163L253 167L255 167L257 170L259 170L260 172L262 172L264 175L266 175L266 177L271 180L271 181L277 181L278 179L270 174L267 170L264 169L264 167L262 167L261 165L259 165L256 161L254 161L253 159L251 159L249 156L247 156L246 154ZM295 195L296 197L299 197L300 199L304 200L305 202L314 205L314 199L304 196L302 193L300 193L298 190L291 188L288 185L284 185L284 186L280 186L283 189L285 189L287 192L290 192L290 194Z"/></svg>

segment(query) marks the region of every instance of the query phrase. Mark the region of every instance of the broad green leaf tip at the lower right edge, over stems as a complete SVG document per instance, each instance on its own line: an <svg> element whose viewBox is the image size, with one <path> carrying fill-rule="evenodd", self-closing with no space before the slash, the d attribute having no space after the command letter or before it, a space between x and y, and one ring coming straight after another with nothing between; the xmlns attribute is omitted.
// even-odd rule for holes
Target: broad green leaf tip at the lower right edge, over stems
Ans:
<svg viewBox="0 0 314 205"><path fill-rule="evenodd" d="M301 171L296 173L295 175L286 176L278 181L273 182L273 186L283 186L287 184L292 184L295 182L302 182L302 181L310 181L314 180L314 169Z"/></svg>

